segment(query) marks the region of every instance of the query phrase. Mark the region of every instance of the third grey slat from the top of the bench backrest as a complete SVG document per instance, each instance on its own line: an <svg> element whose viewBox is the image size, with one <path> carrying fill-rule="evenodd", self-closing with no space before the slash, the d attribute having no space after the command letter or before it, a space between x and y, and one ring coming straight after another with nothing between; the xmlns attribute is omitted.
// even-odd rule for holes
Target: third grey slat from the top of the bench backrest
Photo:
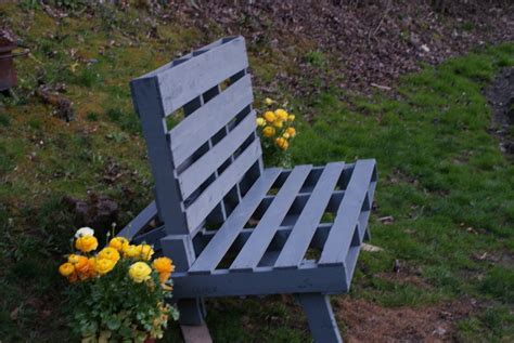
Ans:
<svg viewBox="0 0 514 343"><path fill-rule="evenodd" d="M179 175L180 190L187 199L248 138L256 128L255 111L246 116L218 144ZM196 138L196 137L193 137Z"/></svg>

